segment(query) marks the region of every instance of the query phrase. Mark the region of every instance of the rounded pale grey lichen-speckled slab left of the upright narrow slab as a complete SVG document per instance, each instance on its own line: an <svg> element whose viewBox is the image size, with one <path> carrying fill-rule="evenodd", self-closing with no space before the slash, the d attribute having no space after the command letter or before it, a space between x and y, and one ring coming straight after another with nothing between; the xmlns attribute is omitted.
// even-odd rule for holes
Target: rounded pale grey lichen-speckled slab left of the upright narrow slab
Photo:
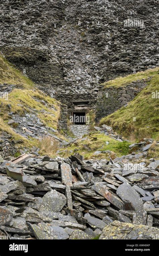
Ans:
<svg viewBox="0 0 159 256"><path fill-rule="evenodd" d="M66 197L63 194L57 192L56 190L49 191L43 196L43 202L41 204L40 211L45 209L58 212L63 208L66 202Z"/></svg>

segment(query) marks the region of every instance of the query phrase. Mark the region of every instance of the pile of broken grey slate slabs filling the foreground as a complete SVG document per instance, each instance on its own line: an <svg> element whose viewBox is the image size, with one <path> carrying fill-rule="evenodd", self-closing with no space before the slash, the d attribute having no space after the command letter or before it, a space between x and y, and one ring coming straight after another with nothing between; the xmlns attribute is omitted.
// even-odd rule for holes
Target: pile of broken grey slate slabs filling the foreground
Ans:
<svg viewBox="0 0 159 256"><path fill-rule="evenodd" d="M159 160L150 162L0 158L0 237L114 239L120 226L123 239L157 239Z"/></svg>

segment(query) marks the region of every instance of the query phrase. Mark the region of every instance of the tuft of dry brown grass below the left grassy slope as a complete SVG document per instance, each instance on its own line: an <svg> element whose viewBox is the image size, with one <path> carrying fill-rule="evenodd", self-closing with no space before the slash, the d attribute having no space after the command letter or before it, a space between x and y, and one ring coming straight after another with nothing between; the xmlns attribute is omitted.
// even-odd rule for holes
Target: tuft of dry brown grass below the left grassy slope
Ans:
<svg viewBox="0 0 159 256"><path fill-rule="evenodd" d="M58 141L51 136L43 137L42 140L39 141L38 147L42 155L49 155L50 157L54 156L59 149Z"/></svg>

